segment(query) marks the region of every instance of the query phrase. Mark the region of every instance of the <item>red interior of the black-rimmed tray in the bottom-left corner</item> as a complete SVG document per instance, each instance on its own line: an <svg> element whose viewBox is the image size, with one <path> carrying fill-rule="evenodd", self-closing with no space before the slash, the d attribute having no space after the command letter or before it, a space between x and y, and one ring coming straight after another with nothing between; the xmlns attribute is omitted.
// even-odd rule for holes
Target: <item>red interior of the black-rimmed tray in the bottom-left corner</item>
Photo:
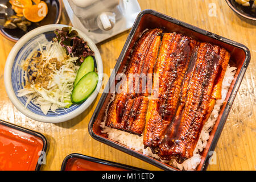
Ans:
<svg viewBox="0 0 256 182"><path fill-rule="evenodd" d="M35 170L43 147L42 138L0 122L0 170Z"/></svg>

